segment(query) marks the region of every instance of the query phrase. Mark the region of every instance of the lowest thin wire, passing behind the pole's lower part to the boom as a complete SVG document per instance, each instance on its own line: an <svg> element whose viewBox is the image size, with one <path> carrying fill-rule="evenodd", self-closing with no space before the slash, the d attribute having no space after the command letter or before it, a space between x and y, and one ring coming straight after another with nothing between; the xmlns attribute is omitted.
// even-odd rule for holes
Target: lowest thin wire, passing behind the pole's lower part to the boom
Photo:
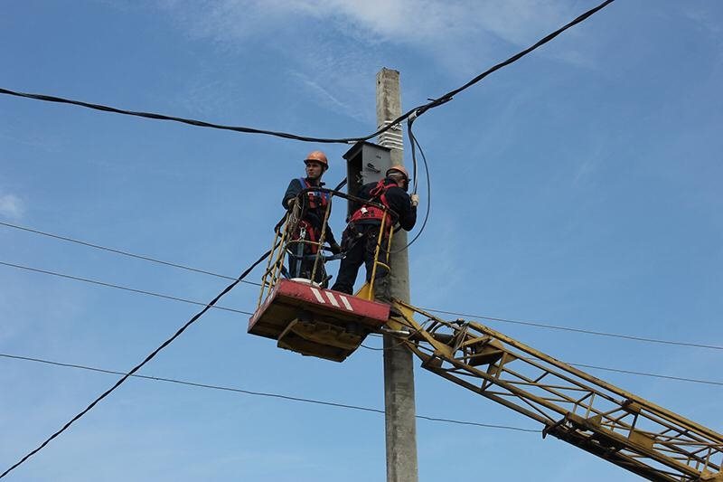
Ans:
<svg viewBox="0 0 723 482"><path fill-rule="evenodd" d="M80 370L88 370L90 372L110 373L110 374L117 374L117 375L126 375L127 374L127 373L123 373L123 372L117 372L115 370L105 370L102 368L96 368L96 367L81 365L81 364L65 364L65 363L61 363L61 362L53 362L51 360L43 360L42 358L33 358L30 356L19 356L19 355L14 355L14 354L0 354L0 357L10 358L10 359L14 359L14 360L23 360L23 361L28 361L28 362L37 362L37 363L41 363L41 364L51 364L51 365L62 366L62 367L66 367L66 368L77 368ZM336 408L341 408L341 409L350 409L350 410L357 410L357 411L371 411L373 413L382 413L382 414L384 413L383 410L374 409L371 407L362 407L360 405L350 405L347 403L327 402L327 401L317 400L317 399L294 397L294 396L290 396L290 395L282 395L280 393L255 392L255 391L244 390L244 389L240 389L240 388L236 388L236 387L213 385L213 384L209 384L209 383L195 383L195 382L189 382L186 380L178 380L178 379L174 379L174 378L164 378L164 377L154 376L154 375L131 374L130 376L133 376L136 378L142 378L145 380L152 380L154 382L177 383L180 385L188 385L188 386L192 386L192 387L196 387L196 388L221 390L223 392L244 393L246 395L277 398L277 399L287 400L287 401L291 401L291 402L315 403L317 405L325 405L325 406L336 407ZM520 427L512 427L512 426L508 426L508 425L494 425L494 424L489 424L489 423L479 423L479 422L475 422L475 421L457 421L457 420L451 420L451 419L441 419L441 418L437 418L437 417L427 417L425 415L417 415L416 417L418 419L427 420L427 421L442 421L442 422L447 422L447 423L456 423L459 425L473 425L476 427L484 427L484 428L490 428L490 429L506 429L506 430L517 430L517 431L540 433L540 430L522 429Z"/></svg>

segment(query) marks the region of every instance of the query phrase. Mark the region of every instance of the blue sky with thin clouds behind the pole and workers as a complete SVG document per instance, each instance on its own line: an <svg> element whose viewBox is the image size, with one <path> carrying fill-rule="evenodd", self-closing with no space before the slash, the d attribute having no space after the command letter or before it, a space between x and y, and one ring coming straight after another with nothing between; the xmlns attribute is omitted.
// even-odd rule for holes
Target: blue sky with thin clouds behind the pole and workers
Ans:
<svg viewBox="0 0 723 482"><path fill-rule="evenodd" d="M0 87L360 136L375 127L380 68L401 72L409 108L597 2L356 4L6 1ZM620 0L419 118L433 197L409 253L412 301L723 345L721 25L714 0ZM318 147L0 96L0 220L235 276L268 249L280 196ZM335 184L348 146L321 147ZM7 227L0 252L4 262L200 301L226 285ZM5 266L0 286L0 352L110 370L134 366L197 311ZM221 304L253 310L257 297L241 285ZM383 408L380 352L343 364L303 358L246 335L247 321L212 311L143 373ZM716 350L490 326L572 363L723 382ZM539 428L416 370L421 415ZM720 386L592 373L723 430ZM0 359L0 469L115 380ZM559 440L509 430L419 421L418 454L422 481L638 480ZM384 473L379 414L136 379L8 479L356 482Z"/></svg>

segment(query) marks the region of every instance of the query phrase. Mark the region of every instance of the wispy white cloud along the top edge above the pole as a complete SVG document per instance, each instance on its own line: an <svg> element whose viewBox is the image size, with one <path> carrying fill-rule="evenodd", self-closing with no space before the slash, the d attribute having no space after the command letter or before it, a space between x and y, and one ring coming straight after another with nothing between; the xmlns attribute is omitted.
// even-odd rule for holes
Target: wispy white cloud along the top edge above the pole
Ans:
<svg viewBox="0 0 723 482"><path fill-rule="evenodd" d="M461 41L487 33L523 45L577 14L570 2L551 0L159 0L157 5L193 35L218 41L276 34L307 20L317 21L316 29L333 28L367 43L449 44L473 51L474 43Z"/></svg>

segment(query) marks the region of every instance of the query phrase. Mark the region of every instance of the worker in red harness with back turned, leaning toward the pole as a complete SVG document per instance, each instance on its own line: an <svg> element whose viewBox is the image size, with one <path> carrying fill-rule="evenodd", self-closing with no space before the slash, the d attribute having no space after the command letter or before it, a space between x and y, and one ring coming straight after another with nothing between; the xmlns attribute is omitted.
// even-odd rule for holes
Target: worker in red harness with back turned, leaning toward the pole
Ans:
<svg viewBox="0 0 723 482"><path fill-rule="evenodd" d="M374 252L380 230L383 230L380 260L385 260L386 257L382 255L389 250L389 233L394 224L399 222L399 226L405 231L410 231L414 227L417 222L419 196L407 194L408 187L409 174L403 165L392 165L380 182L362 186L357 197L383 205L388 209L387 215L383 216L383 210L371 204L362 204L352 213L342 235L342 246L346 256L339 267L339 275L333 284L333 290L352 294L354 281L362 264L366 265L367 281L371 280ZM381 225L382 217L385 219L384 226ZM388 269L377 266L374 291L378 300L389 303L388 275Z"/></svg>

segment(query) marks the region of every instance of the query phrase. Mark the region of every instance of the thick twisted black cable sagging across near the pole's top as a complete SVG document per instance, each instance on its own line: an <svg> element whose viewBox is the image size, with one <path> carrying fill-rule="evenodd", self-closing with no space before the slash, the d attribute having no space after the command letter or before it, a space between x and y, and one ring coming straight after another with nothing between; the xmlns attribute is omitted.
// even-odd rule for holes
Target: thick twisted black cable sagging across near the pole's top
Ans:
<svg viewBox="0 0 723 482"><path fill-rule="evenodd" d="M606 0L600 5L597 5L595 8L592 8L588 10L585 14L579 15L575 20L572 22L569 22L568 24L565 24L564 26L560 27L558 30L556 30L553 33L549 33L546 37L542 38L537 43L533 44L531 47L528 47L527 49L516 53L515 55L512 55L509 59L506 61L502 61L496 65L494 65L492 68L488 69L487 71L484 71L480 75L474 77L474 79L469 80L465 85L455 89L450 90L446 94L438 97L437 99L432 99L426 104L420 105L416 108L409 109L407 112L399 116L399 118L396 118L392 120L389 124L384 126L383 128L378 129L376 132L370 134L369 136L364 137L341 137L341 138L325 138L325 137L306 137L306 136L298 136L296 134L290 134L286 132L279 132L279 131L272 131L272 130L265 130L265 129L258 129L258 128L245 128L245 127L234 127L234 126L224 126L221 124L214 124L211 122L205 122L202 120L195 120L191 118L179 118L174 116L166 116L164 114L155 114L153 112L139 112L134 110L126 110L126 109L117 109L114 107L104 106L101 104L92 104L89 102L84 102L81 100L73 100L73 99L63 99L61 97L55 97L55 96L49 96L44 94L31 94L26 92L18 92L14 90L7 90L7 89L0 89L0 94L5 95L12 95L16 97L23 97L27 99L36 99L36 100L43 100L46 102L57 102L61 104L70 104L70 105L76 105L80 107L85 107L88 109L96 109L101 110L104 112L113 112L116 114L124 114L127 116L136 116L140 118L152 118L155 120L171 120L174 122L181 122L183 124L188 124L191 126L201 127L201 128L216 128L221 130L230 130L245 134L263 134L267 136L274 136L274 137L282 137L286 139L293 139L298 140L302 142L317 142L321 144L349 144L349 143L355 143L360 141L366 141L371 139L371 137L377 137L380 134L386 132L390 128L393 128L397 125L399 125L400 122L404 121L405 119L414 116L415 118L418 116L421 116L422 114L426 113L429 109L434 109L436 107L441 106L442 104L445 104L446 102L453 99L453 97L462 92L463 90L468 89L469 87L473 86L475 83L483 80L485 77L493 73L494 71L498 71L502 69L502 67L505 67L507 65L510 65L511 63L515 61L519 61L522 57L527 55L528 53L540 48L540 46L544 45L545 43L549 43L552 39L557 37L560 33L565 32L568 30L568 28L573 27L585 20L592 14L596 14L599 10L603 9L607 5L613 3L615 0Z"/></svg>

